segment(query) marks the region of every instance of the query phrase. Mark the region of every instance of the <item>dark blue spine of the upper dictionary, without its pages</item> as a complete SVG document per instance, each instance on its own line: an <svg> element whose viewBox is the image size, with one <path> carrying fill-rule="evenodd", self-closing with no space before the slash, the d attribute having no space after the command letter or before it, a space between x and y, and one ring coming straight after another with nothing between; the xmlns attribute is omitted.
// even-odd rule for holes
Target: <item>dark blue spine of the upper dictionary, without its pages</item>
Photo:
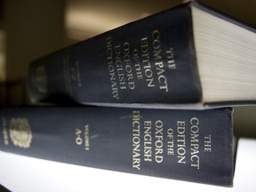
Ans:
<svg viewBox="0 0 256 192"><path fill-rule="evenodd" d="M191 20L190 6L179 6L35 60L30 96L87 104L200 102Z"/></svg>

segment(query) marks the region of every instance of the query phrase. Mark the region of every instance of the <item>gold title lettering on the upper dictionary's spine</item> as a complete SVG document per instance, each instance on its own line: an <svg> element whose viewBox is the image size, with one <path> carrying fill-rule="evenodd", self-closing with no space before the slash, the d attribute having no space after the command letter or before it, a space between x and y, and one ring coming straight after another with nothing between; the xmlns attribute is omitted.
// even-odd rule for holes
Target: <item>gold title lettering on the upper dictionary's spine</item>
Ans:
<svg viewBox="0 0 256 192"><path fill-rule="evenodd" d="M132 43L122 39L115 41L113 36L106 37L107 68L113 99L120 100L123 92L133 92L138 85L169 92L171 85L168 80L172 76L168 73L176 69L174 50L172 46L165 47L163 44L161 30L153 29L148 33L148 36L132 39ZM82 81L77 83L82 86Z"/></svg>

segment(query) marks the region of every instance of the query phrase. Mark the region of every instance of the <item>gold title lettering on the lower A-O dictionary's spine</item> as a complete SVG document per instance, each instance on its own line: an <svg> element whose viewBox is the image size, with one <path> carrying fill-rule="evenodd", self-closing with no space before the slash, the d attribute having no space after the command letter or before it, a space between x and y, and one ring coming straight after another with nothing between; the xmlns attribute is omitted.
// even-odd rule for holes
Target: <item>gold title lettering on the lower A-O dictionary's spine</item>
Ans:
<svg viewBox="0 0 256 192"><path fill-rule="evenodd" d="M140 111L132 112L132 168L140 170L141 164L162 164L168 156L175 156L177 164L189 164L191 169L200 170L199 119L189 118L188 123L178 120L175 129L166 129L164 123L161 119L142 121ZM204 152L211 152L211 140L211 135L204 136Z"/></svg>

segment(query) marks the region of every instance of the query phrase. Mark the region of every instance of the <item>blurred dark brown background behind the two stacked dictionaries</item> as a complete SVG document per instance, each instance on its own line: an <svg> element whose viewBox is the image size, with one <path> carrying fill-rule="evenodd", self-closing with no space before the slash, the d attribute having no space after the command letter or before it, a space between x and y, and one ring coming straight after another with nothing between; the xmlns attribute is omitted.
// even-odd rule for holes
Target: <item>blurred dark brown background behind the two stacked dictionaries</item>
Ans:
<svg viewBox="0 0 256 192"><path fill-rule="evenodd" d="M31 60L181 2L0 0L0 106L29 104ZM201 2L256 27L256 1ZM235 108L234 126L237 137L256 138L256 107Z"/></svg>

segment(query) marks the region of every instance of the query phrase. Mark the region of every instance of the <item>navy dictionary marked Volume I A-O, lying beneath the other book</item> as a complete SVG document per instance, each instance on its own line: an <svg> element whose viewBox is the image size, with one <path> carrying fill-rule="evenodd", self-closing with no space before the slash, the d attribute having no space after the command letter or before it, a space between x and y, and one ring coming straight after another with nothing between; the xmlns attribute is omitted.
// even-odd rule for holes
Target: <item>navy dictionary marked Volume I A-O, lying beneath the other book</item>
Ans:
<svg viewBox="0 0 256 192"><path fill-rule="evenodd" d="M230 187L233 110L0 108L0 150L22 156Z"/></svg>

